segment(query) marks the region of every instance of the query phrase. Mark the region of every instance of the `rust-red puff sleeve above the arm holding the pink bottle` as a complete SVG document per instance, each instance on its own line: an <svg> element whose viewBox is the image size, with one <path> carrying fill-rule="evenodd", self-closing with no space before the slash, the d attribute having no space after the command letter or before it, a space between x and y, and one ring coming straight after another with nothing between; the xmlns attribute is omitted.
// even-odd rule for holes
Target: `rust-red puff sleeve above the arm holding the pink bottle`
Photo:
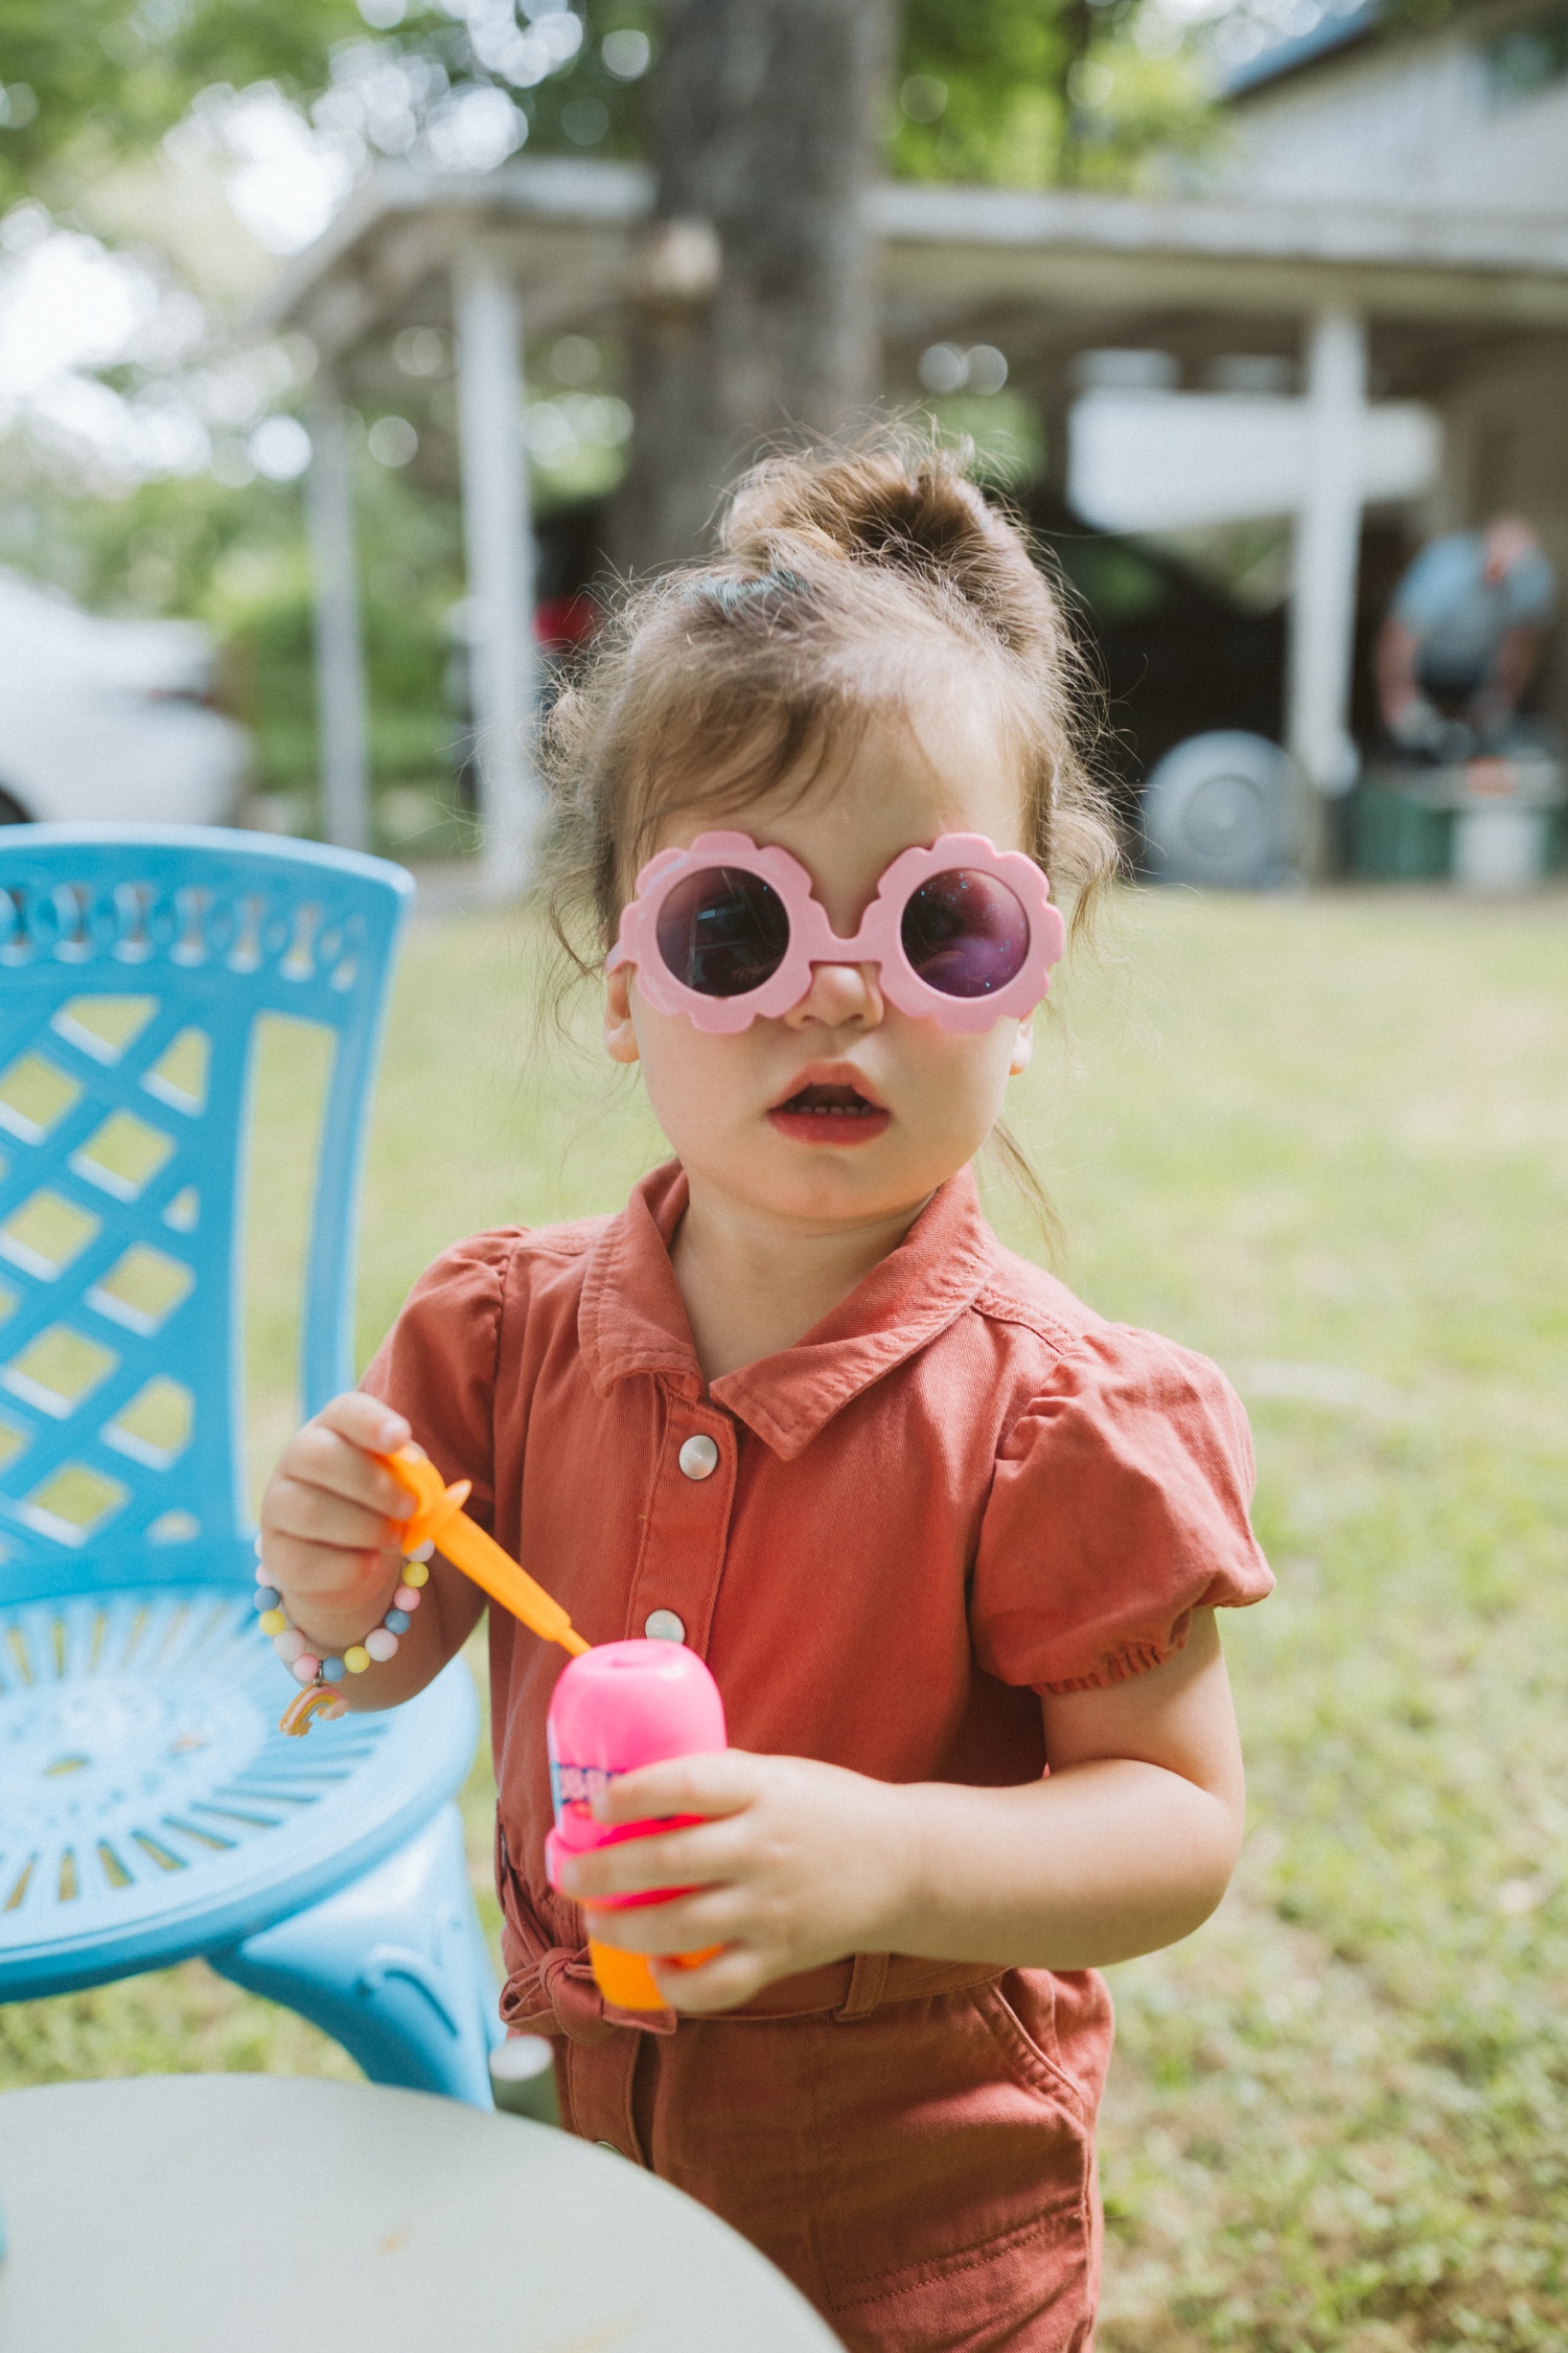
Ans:
<svg viewBox="0 0 1568 2353"><path fill-rule="evenodd" d="M1201 1355L1100 1325L1013 1419L980 1525L980 1666L1041 1694L1159 1666L1194 1609L1258 1602L1274 1579L1248 1525L1241 1400Z"/></svg>

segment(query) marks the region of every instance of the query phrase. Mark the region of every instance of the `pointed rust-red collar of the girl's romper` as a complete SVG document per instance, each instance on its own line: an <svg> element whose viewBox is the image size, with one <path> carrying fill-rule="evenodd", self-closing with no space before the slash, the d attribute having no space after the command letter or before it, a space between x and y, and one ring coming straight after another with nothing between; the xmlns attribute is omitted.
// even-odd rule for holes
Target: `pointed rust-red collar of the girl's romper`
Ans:
<svg viewBox="0 0 1568 2353"><path fill-rule="evenodd" d="M632 1188L588 1252L578 1341L599 1395L635 1372L665 1379L693 1402L703 1395L670 1266L684 1209L686 1176L670 1160ZM712 1402L790 1461L851 1398L961 1315L992 1271L992 1252L973 1172L959 1169L849 1299L792 1348L726 1372L712 1384Z"/></svg>

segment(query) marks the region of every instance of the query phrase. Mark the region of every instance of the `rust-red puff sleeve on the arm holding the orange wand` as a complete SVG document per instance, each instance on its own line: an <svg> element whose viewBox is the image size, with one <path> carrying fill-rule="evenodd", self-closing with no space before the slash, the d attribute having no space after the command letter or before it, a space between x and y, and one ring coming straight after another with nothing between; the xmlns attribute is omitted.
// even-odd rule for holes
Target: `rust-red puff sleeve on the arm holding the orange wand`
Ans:
<svg viewBox="0 0 1568 2353"><path fill-rule="evenodd" d="M487 1529L496 1504L501 1308L517 1240L477 1233L447 1249L360 1374L360 1388L407 1417L444 1480L473 1480L468 1511Z"/></svg>

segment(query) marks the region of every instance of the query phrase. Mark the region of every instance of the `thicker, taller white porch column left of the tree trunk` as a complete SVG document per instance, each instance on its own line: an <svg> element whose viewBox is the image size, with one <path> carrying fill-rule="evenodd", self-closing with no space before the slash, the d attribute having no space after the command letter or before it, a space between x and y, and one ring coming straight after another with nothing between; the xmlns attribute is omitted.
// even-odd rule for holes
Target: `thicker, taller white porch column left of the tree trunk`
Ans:
<svg viewBox="0 0 1568 2353"><path fill-rule="evenodd" d="M529 758L536 675L522 311L501 259L480 240L454 271L451 299L484 887L510 899L529 878L541 819Z"/></svg>

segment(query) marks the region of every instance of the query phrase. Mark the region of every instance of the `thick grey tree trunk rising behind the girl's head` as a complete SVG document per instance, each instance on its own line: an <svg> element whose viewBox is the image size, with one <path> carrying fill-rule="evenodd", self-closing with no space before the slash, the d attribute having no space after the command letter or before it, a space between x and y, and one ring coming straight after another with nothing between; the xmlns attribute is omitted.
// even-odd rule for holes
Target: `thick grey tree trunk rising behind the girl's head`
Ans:
<svg viewBox="0 0 1568 2353"><path fill-rule="evenodd" d="M860 193L893 14L896 0L665 0L614 532L632 572L698 553L769 440L842 431L872 398Z"/></svg>

